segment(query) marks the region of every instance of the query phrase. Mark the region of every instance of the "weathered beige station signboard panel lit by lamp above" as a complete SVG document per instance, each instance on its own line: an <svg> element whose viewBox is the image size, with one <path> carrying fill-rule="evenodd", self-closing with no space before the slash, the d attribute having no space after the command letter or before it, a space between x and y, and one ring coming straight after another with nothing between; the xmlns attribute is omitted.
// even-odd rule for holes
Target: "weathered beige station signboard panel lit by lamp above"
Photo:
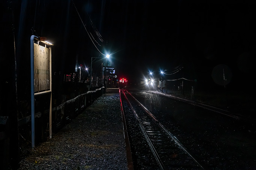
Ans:
<svg viewBox="0 0 256 170"><path fill-rule="evenodd" d="M50 49L34 43L34 92L50 90Z"/></svg>

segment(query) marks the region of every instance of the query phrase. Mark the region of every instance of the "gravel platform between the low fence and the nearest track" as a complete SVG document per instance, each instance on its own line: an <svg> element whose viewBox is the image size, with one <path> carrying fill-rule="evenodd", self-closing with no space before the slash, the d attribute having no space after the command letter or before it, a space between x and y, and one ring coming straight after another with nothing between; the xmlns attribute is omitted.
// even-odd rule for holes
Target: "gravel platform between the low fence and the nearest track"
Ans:
<svg viewBox="0 0 256 170"><path fill-rule="evenodd" d="M127 170L118 93L98 98L52 139L22 158L19 170Z"/></svg>

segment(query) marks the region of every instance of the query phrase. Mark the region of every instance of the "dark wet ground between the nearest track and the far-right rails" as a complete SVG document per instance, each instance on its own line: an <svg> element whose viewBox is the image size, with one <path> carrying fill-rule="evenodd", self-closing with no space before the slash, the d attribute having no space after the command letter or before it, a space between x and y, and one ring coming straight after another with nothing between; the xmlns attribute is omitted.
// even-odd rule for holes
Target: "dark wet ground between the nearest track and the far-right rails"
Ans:
<svg viewBox="0 0 256 170"><path fill-rule="evenodd" d="M134 95L205 169L256 169L253 125L158 94L136 92Z"/></svg>

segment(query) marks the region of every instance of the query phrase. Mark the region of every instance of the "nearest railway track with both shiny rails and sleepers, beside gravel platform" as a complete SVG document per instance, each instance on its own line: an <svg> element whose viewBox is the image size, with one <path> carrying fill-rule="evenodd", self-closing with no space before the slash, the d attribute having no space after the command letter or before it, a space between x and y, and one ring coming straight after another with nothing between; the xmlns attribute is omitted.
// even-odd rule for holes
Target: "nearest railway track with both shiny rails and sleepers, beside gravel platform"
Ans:
<svg viewBox="0 0 256 170"><path fill-rule="evenodd" d="M136 98L126 90L121 90L120 95L123 105L127 104L131 110L124 111L125 116L128 117L127 114L133 114L135 117L136 121L133 123L136 123L137 127L140 128L140 134L143 134L159 169L204 169L182 143ZM128 129L129 131L135 130Z"/></svg>

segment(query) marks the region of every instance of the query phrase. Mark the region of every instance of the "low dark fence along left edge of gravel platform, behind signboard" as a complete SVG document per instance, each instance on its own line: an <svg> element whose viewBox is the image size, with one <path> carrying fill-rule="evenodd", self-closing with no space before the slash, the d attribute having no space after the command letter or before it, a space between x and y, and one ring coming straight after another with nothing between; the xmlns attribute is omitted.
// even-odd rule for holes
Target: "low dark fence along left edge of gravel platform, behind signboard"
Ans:
<svg viewBox="0 0 256 170"><path fill-rule="evenodd" d="M70 119L75 118L81 113L83 108L91 105L98 97L104 92L104 87L96 89L94 91L88 91L83 94L79 94L70 100L65 101L66 95L63 95L63 101L60 105L52 108L52 129L54 132L60 130ZM36 118L36 143L45 141L49 137L49 109L37 111ZM18 120L19 135L23 142L30 141L30 123L31 115L23 117ZM22 141L21 141L22 142ZM21 144L22 145L22 144ZM27 145L27 144L25 144Z"/></svg>

